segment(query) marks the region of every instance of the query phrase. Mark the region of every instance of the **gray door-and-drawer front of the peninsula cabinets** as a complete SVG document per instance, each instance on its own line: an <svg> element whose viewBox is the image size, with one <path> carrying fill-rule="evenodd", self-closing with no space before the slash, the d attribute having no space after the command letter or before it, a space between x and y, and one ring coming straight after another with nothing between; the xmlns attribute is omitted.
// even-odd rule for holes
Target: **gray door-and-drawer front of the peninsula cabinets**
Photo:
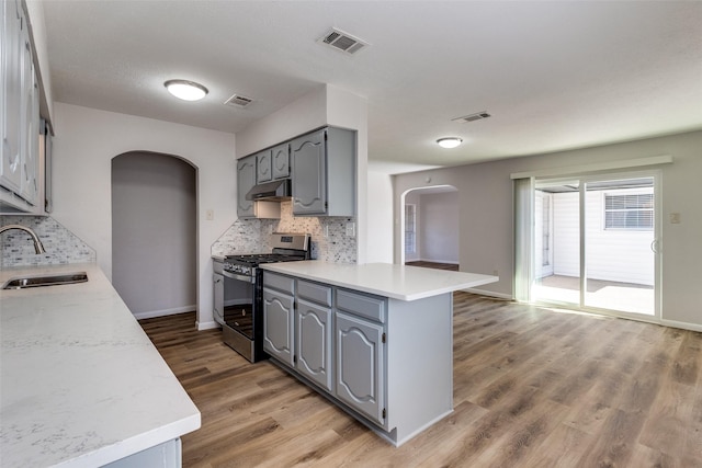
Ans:
<svg viewBox="0 0 702 468"><path fill-rule="evenodd" d="M263 349L383 426L385 304L382 297L265 272Z"/></svg>

